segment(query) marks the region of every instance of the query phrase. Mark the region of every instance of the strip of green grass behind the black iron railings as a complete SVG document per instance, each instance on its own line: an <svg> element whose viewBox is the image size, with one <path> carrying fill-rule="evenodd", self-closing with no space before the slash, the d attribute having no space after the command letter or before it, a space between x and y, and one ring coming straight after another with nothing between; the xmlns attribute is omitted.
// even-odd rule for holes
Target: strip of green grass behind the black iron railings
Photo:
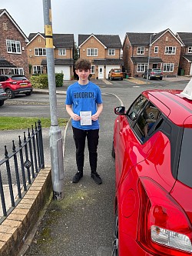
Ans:
<svg viewBox="0 0 192 256"><path fill-rule="evenodd" d="M35 122L38 125L38 120L41 121L42 128L49 128L51 126L51 118L18 118L18 117L0 117L0 131L2 130L17 130L35 128ZM58 118L58 125L65 126L68 122L66 118Z"/></svg>

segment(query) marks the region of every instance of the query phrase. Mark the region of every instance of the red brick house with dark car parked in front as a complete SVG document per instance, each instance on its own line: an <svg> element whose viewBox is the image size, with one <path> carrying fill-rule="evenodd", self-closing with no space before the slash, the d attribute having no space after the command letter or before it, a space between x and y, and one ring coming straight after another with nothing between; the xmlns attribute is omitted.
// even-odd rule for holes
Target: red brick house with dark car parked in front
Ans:
<svg viewBox="0 0 192 256"><path fill-rule="evenodd" d="M141 77L149 68L161 68L164 76L176 76L182 42L170 29L157 34L127 32L123 43L125 72Z"/></svg>

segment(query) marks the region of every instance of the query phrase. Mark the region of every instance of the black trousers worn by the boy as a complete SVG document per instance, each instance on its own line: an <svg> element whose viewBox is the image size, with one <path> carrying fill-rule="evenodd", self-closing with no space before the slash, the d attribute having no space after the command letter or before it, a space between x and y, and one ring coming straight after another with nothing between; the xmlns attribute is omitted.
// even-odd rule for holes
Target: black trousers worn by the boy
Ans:
<svg viewBox="0 0 192 256"><path fill-rule="evenodd" d="M91 171L97 170L98 162L98 138L99 129L96 130L81 130L78 128L73 128L74 143L76 146L76 163L78 166L78 171L83 172L84 168L84 147L85 140L88 140L88 152L89 152L89 164Z"/></svg>

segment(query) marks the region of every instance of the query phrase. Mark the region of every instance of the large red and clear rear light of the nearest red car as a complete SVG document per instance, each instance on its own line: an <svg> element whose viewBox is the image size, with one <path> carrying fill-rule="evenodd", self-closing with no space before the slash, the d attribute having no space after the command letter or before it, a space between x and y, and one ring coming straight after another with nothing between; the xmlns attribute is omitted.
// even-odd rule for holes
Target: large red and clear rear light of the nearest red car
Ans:
<svg viewBox="0 0 192 256"><path fill-rule="evenodd" d="M149 178L142 178L137 240L153 254L183 256L192 252L192 227L184 210Z"/></svg>

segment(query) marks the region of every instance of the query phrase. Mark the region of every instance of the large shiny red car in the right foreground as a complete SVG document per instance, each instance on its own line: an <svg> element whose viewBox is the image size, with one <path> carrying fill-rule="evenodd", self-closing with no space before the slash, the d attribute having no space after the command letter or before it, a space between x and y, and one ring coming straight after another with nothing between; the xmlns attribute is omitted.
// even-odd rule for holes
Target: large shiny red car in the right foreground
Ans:
<svg viewBox="0 0 192 256"><path fill-rule="evenodd" d="M192 254L192 101L180 92L114 108L113 256Z"/></svg>

